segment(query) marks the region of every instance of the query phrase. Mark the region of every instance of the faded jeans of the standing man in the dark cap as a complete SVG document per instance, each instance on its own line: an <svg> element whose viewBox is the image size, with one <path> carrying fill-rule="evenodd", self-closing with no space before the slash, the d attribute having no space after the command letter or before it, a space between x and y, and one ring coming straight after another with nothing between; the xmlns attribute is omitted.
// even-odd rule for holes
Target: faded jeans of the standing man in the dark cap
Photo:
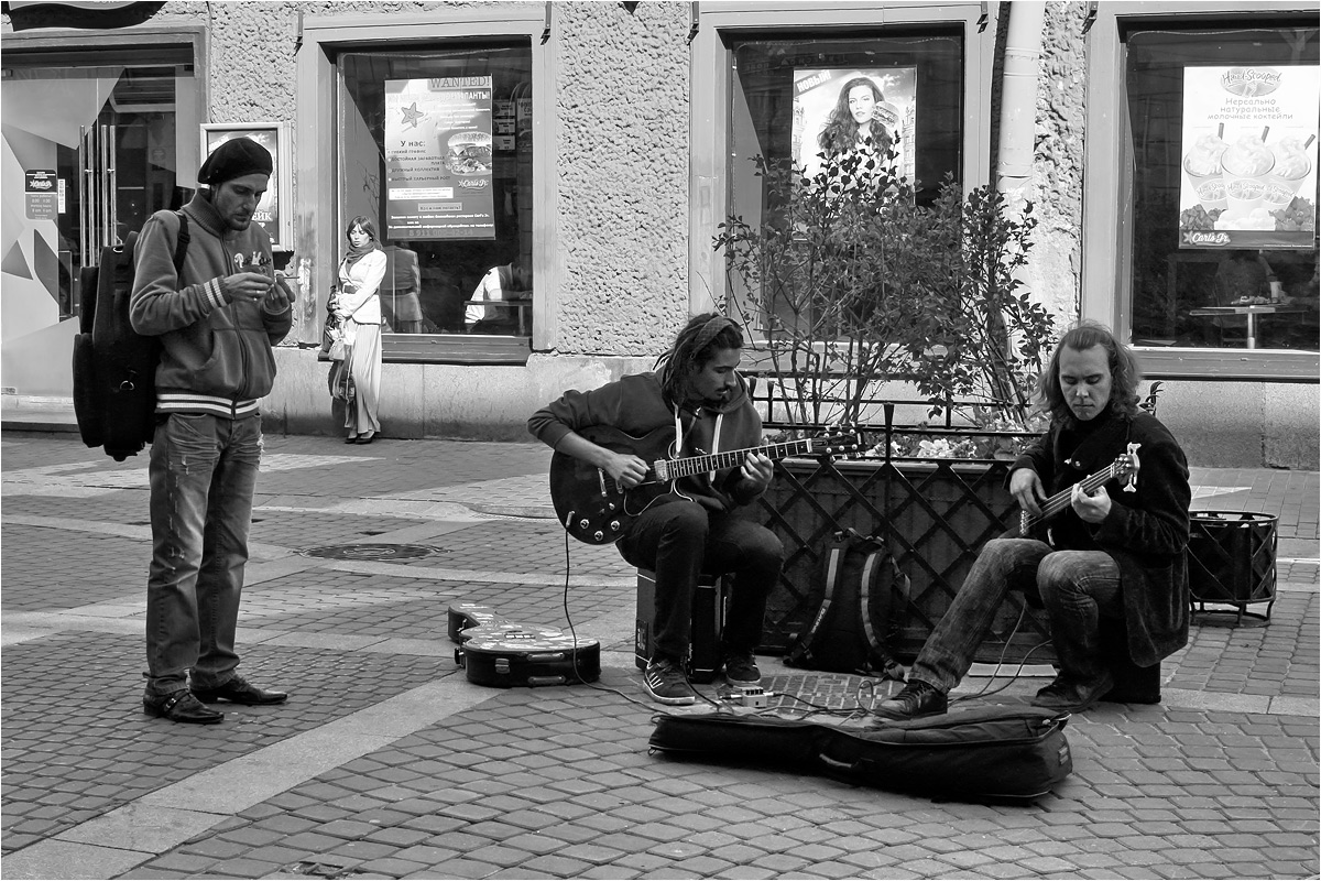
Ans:
<svg viewBox="0 0 1321 881"><path fill-rule="evenodd" d="M174 413L152 441L147 693L215 688L234 676L262 417Z"/></svg>

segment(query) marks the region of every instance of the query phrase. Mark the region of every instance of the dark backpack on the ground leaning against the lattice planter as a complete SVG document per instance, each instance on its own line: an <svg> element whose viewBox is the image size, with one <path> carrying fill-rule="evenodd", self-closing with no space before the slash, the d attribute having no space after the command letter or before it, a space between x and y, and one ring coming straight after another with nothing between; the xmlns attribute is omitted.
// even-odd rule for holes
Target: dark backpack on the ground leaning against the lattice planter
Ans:
<svg viewBox="0 0 1321 881"><path fill-rule="evenodd" d="M836 532L819 596L807 630L791 637L785 664L902 680L904 667L888 645L908 602L908 579L885 544L856 530Z"/></svg>

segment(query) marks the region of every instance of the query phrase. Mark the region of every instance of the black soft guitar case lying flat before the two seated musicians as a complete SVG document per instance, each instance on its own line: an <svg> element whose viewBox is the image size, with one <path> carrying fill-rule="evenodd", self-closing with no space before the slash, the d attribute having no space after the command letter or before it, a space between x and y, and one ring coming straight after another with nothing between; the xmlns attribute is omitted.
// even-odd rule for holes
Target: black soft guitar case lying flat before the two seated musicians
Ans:
<svg viewBox="0 0 1321 881"><path fill-rule="evenodd" d="M1073 771L1069 713L983 707L871 728L729 712L658 715L650 748L946 800L1030 802Z"/></svg>

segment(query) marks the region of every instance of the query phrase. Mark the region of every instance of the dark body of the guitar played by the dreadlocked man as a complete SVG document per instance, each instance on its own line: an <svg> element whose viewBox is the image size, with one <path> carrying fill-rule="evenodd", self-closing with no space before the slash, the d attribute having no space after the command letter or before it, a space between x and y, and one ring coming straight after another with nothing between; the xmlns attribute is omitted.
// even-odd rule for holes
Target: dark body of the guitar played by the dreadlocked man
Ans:
<svg viewBox="0 0 1321 881"><path fill-rule="evenodd" d="M616 453L631 453L646 462L664 460L671 453L674 428L664 425L642 437L617 428L593 425L577 432L597 446ZM649 478L653 474L649 472ZM556 452L551 457L551 502L560 526L579 542L612 544L653 502L672 491L671 482L643 483L624 489L614 479L583 460Z"/></svg>

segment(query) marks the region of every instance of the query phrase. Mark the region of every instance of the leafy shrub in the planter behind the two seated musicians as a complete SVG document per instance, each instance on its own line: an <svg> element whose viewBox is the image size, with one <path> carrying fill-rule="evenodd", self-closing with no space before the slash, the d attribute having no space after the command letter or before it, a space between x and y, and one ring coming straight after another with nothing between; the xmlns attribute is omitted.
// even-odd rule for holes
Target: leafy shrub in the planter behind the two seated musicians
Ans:
<svg viewBox="0 0 1321 881"><path fill-rule="evenodd" d="M882 386L908 382L933 417L1028 431L1054 338L1016 277L1037 222L1030 205L1015 213L993 188L964 195L952 178L918 205L871 152L826 161L814 177L754 161L761 223L731 217L715 248L790 423L875 424Z"/></svg>

